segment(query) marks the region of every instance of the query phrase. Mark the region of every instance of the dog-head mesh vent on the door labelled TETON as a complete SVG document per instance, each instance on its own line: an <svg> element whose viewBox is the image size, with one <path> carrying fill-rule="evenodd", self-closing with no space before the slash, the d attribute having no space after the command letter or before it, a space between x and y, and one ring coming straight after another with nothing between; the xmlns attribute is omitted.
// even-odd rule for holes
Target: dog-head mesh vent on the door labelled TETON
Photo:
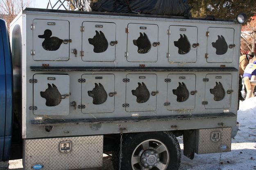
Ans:
<svg viewBox="0 0 256 170"><path fill-rule="evenodd" d="M95 53L103 53L109 46L108 40L106 40L102 31L100 33L96 31L96 35L93 38L89 38L88 41L94 46L93 51Z"/></svg>

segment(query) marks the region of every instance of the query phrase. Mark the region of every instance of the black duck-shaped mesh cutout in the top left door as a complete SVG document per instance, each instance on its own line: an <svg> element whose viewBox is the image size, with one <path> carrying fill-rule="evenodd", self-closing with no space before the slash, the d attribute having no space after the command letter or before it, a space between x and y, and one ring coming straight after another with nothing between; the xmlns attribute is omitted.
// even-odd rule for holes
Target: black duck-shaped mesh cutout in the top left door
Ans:
<svg viewBox="0 0 256 170"><path fill-rule="evenodd" d="M63 40L58 37L51 37L52 31L50 29L45 29L43 35L39 35L39 38L44 38L42 43L43 49L47 51L56 51L61 46Z"/></svg>

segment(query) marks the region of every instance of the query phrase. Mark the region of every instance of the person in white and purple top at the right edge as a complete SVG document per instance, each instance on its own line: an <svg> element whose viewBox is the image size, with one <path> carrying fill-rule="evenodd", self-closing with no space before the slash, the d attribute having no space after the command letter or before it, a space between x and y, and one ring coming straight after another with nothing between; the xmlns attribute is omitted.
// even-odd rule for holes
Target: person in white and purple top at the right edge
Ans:
<svg viewBox="0 0 256 170"><path fill-rule="evenodd" d="M256 81L256 60L246 66L243 78L245 87L247 89L246 99L253 97L253 90L255 85L251 85L250 80Z"/></svg>

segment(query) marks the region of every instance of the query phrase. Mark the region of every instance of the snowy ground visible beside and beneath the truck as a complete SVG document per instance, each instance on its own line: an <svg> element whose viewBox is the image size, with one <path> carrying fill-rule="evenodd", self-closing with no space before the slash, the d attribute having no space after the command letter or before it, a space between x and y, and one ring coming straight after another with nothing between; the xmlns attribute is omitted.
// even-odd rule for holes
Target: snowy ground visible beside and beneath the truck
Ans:
<svg viewBox="0 0 256 170"><path fill-rule="evenodd" d="M181 166L179 170L256 170L256 97L249 98L240 102L240 110L238 110L238 122L240 123L240 131L234 139L232 139L231 152L223 152L219 167L220 153L214 154L195 154L193 160L182 155ZM182 138L180 141L181 149L183 149ZM22 161L10 161L9 168L12 170L20 170ZM104 157L104 168L90 170L111 170L110 157Z"/></svg>

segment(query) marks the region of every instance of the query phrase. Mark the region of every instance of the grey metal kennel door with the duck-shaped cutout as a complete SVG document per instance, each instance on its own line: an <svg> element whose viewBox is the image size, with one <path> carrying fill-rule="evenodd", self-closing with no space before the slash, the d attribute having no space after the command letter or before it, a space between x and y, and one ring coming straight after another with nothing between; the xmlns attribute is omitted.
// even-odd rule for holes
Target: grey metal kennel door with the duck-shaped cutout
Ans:
<svg viewBox="0 0 256 170"><path fill-rule="evenodd" d="M33 47L30 54L39 61L67 61L69 59L69 21L34 19Z"/></svg>

